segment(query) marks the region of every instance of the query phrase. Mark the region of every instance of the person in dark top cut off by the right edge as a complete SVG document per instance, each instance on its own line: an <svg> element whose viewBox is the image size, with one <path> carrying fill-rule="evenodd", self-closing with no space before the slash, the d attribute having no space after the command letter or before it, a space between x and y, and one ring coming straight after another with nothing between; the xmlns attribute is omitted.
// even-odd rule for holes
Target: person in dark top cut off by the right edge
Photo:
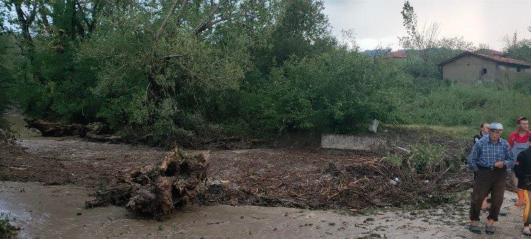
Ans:
<svg viewBox="0 0 531 239"><path fill-rule="evenodd" d="M516 177L518 177L518 188L523 190L525 197L525 209L523 216L524 228L522 233L524 235L531 235L531 148L526 148L518 154L518 158L516 158L515 167L513 170Z"/></svg>

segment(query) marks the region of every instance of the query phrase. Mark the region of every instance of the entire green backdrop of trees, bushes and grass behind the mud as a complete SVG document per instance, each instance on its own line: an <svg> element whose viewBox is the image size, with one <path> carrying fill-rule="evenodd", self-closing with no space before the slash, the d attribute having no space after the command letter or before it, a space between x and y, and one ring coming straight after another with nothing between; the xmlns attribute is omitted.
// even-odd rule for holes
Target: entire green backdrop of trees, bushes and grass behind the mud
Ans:
<svg viewBox="0 0 531 239"><path fill-rule="evenodd" d="M33 117L103 122L149 144L354 132L372 119L475 128L531 115L521 107L531 101L527 81L443 81L437 64L477 47L439 38L436 24L418 28L408 1L401 37L408 58L399 60L338 41L320 0L2 0L0 7L0 110L13 100ZM506 53L529 60L529 46L515 40Z"/></svg>

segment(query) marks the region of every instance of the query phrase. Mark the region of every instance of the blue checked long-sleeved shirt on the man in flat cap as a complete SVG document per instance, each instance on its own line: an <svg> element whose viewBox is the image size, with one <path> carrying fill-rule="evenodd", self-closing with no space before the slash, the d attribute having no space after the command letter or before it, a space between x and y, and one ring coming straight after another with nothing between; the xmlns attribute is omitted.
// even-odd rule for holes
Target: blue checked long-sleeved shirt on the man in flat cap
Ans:
<svg viewBox="0 0 531 239"><path fill-rule="evenodd" d="M484 135L474 144L468 156L468 168L476 171L481 168L494 168L494 163L503 161L507 169L513 168L513 152L510 151L509 143L505 139L498 143L491 142L489 134Z"/></svg>

